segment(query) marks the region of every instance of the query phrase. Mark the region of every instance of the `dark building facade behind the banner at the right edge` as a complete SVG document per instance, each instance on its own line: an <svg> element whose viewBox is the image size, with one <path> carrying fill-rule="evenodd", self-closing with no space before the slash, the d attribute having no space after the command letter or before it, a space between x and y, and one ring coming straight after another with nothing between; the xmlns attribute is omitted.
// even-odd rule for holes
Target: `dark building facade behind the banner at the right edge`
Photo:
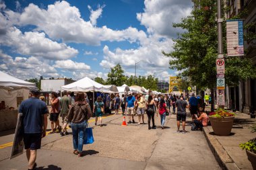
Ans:
<svg viewBox="0 0 256 170"><path fill-rule="evenodd" d="M226 18L234 17L240 12L245 12L245 17L241 18L244 25L245 35L256 34L256 1L255 0L230 0L224 1L226 10ZM250 26L249 26L250 25ZM246 27L249 26L249 27ZM256 40L250 36L244 40L245 57L253 61L256 67ZM256 80L247 79L241 81L237 87L226 88L226 101L228 108L238 110L249 114L256 110Z"/></svg>

